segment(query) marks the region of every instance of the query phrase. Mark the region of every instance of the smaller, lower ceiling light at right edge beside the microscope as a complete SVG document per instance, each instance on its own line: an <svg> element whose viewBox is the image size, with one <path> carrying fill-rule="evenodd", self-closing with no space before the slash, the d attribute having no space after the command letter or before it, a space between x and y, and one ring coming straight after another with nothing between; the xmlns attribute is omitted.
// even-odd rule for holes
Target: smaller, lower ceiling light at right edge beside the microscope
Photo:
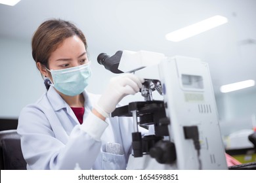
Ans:
<svg viewBox="0 0 256 183"><path fill-rule="evenodd" d="M233 92L236 90L248 88L251 86L255 86L255 81L254 80L245 80L245 81L241 81L241 82L235 82L232 84L223 85L223 86L221 86L221 92L228 93L228 92Z"/></svg>

